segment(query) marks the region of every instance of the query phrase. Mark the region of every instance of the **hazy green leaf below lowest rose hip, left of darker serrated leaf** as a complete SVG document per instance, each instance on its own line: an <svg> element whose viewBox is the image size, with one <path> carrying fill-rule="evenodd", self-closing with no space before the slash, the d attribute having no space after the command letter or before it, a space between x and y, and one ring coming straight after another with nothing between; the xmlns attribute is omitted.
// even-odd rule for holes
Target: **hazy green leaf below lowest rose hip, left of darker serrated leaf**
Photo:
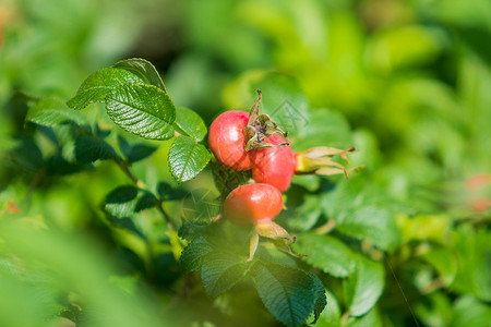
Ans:
<svg viewBox="0 0 491 327"><path fill-rule="evenodd" d="M228 252L213 252L202 262L201 279L205 291L212 296L218 296L248 274L251 263L246 257Z"/></svg>

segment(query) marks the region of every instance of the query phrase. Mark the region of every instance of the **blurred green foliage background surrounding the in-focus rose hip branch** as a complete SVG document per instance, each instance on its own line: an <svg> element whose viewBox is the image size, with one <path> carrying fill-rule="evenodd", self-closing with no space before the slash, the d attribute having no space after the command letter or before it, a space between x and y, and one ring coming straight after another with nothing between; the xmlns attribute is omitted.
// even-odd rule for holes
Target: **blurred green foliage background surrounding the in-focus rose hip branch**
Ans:
<svg viewBox="0 0 491 327"><path fill-rule="evenodd" d="M266 112L288 100L301 114L294 149L354 144L352 164L367 166L354 180L404 207L391 218L391 254L418 322L489 326L490 1L2 0L0 28L1 326L276 324L253 296L190 291L158 213L135 218L143 238L115 227L101 203L131 181L113 165L49 169L50 156L70 158L73 144L25 123L24 99L65 101L89 73L132 57L153 62L176 105L207 124L225 109L248 109L259 87ZM278 83L295 87L268 87ZM115 144L123 133L101 107L84 114L115 130ZM209 186L207 171L177 185L169 144L147 144L158 149L132 169L149 187ZM166 206L181 215L180 202ZM412 261L424 246L441 253ZM386 292L383 324L412 326L407 304L391 303L400 290Z"/></svg>

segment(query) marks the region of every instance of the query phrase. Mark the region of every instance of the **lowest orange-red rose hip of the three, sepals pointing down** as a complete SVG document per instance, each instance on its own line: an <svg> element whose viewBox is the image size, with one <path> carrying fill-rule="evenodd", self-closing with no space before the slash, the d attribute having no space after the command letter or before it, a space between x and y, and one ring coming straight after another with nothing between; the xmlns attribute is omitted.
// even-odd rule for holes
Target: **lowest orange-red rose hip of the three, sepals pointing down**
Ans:
<svg viewBox="0 0 491 327"><path fill-rule="evenodd" d="M225 199L225 217L239 226L275 219L283 209L282 193L270 184L246 184L235 189Z"/></svg>

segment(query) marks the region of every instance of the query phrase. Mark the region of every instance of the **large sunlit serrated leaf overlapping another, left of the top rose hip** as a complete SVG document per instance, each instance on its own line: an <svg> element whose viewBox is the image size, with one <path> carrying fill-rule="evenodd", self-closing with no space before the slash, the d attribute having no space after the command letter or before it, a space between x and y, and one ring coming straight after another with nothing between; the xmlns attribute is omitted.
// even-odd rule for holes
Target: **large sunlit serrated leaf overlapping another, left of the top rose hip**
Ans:
<svg viewBox="0 0 491 327"><path fill-rule="evenodd" d="M106 109L120 128L152 140L169 140L176 108L169 96L152 85L123 84L107 95Z"/></svg>

